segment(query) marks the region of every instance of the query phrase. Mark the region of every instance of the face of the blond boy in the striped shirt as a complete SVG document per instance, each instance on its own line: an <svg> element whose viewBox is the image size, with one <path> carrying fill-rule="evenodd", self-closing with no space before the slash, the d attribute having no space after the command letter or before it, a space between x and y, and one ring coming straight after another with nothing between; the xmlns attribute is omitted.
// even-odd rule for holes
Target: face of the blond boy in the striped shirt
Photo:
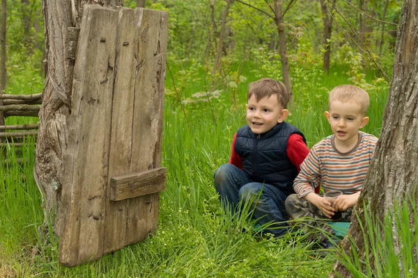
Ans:
<svg viewBox="0 0 418 278"><path fill-rule="evenodd" d="M369 122L369 117L364 117L361 109L355 101L330 101L330 111L325 112L325 117L330 122L335 146L340 152L348 152L355 147L359 129Z"/></svg>

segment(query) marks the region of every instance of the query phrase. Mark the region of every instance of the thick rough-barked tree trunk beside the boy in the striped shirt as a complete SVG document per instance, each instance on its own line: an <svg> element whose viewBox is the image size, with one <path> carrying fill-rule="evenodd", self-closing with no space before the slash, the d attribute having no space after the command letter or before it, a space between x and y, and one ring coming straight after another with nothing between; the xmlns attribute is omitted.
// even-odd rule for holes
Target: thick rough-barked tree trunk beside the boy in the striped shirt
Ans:
<svg viewBox="0 0 418 278"><path fill-rule="evenodd" d="M375 157L364 181L362 195L355 206L363 224L364 203L371 206L371 213L376 219L384 219L388 212L394 211L394 202L402 204L402 199L407 196L418 199L418 191L413 190L418 184L418 28L415 26L418 22L417 1L405 0L401 15L393 78L383 115L382 131ZM418 202L416 205L418 206ZM413 227L414 210L410 207L409 211ZM364 238L356 218L353 218L348 234L357 245L357 254L362 256ZM394 230L395 250L396 245L401 245L396 235ZM343 240L342 245L343 250L351 254L347 238ZM417 250L414 250L412 256L417 257ZM342 277L350 276L350 272L339 261L334 264L334 269Z"/></svg>

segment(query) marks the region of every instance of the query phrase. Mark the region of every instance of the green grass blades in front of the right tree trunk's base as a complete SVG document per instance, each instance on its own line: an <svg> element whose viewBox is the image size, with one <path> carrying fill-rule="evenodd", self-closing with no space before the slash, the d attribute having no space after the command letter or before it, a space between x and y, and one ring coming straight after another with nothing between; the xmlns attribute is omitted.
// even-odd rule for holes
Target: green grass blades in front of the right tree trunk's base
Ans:
<svg viewBox="0 0 418 278"><path fill-rule="evenodd" d="M417 277L418 263L413 254L418 247L416 204L417 200L411 197L404 199L401 204L395 203L394 210L383 221L373 218L370 209L364 206L362 236L366 243L365 261L358 259L357 248L351 239L353 252L347 254L339 251L341 262L354 277ZM409 208L413 210L412 214ZM394 237L398 238L399 246L394 244ZM372 268L372 265L375 267Z"/></svg>

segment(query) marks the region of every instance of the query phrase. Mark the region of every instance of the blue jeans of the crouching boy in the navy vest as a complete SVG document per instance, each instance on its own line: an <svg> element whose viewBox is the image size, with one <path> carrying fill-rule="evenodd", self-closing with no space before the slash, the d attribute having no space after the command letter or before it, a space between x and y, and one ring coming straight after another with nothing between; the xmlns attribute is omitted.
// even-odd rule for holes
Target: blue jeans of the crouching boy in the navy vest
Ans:
<svg viewBox="0 0 418 278"><path fill-rule="evenodd" d="M240 210L238 204L250 203L253 218L261 225L270 223L263 232L281 236L288 224L284 201L287 195L268 183L250 181L244 171L232 164L224 164L214 174L215 188L225 209L231 213Z"/></svg>

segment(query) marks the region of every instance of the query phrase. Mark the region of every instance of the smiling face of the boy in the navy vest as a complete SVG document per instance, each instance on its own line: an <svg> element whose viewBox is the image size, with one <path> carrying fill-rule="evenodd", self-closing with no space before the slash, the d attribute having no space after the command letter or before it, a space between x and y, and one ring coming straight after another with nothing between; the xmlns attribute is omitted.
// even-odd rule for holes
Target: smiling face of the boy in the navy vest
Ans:
<svg viewBox="0 0 418 278"><path fill-rule="evenodd" d="M283 122L288 115L288 110L282 108L276 95L263 97L259 101L255 95L252 95L248 99L246 108L247 123L251 131L256 134L270 131L276 124Z"/></svg>

